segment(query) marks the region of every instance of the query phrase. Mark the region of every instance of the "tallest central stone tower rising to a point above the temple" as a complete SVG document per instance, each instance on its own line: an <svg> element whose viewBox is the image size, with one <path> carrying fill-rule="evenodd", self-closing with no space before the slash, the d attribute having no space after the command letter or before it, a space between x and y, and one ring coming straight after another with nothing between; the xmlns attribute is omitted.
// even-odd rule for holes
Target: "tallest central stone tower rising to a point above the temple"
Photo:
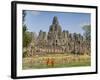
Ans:
<svg viewBox="0 0 100 80"><path fill-rule="evenodd" d="M59 24L57 16L54 16L53 18L53 22L50 25L47 39L48 39L49 45L52 45L52 46L61 45L62 29Z"/></svg>

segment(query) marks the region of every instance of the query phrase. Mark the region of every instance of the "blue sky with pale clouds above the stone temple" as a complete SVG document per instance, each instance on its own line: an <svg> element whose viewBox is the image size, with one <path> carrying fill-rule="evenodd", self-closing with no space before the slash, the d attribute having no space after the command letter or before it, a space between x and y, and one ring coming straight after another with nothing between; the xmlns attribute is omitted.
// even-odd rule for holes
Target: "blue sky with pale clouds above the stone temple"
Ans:
<svg viewBox="0 0 100 80"><path fill-rule="evenodd" d="M71 33L83 34L82 26L91 23L89 13L72 12L47 12L47 11L26 11L25 24L31 32L38 33L40 30L48 32L54 16L58 17L62 30Z"/></svg>

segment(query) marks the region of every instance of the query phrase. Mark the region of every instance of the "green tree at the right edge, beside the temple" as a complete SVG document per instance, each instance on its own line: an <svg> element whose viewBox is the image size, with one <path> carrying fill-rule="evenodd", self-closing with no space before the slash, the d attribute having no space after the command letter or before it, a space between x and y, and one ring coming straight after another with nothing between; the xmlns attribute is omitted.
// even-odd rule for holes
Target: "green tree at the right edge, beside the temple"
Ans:
<svg viewBox="0 0 100 80"><path fill-rule="evenodd" d="M84 30L84 37L87 41L91 40L91 25L84 25L83 27Z"/></svg>

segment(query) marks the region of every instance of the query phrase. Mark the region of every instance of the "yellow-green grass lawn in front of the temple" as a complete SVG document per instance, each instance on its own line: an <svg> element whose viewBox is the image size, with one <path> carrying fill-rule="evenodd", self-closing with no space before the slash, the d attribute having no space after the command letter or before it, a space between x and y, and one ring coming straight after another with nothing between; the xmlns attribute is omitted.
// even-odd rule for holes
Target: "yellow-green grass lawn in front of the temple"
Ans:
<svg viewBox="0 0 100 80"><path fill-rule="evenodd" d="M54 59L54 65L47 65L47 59ZM90 66L90 56L88 55L66 55L66 54L48 54L45 56L33 56L23 58L23 69L42 69L42 68L62 68L62 67L80 67Z"/></svg>

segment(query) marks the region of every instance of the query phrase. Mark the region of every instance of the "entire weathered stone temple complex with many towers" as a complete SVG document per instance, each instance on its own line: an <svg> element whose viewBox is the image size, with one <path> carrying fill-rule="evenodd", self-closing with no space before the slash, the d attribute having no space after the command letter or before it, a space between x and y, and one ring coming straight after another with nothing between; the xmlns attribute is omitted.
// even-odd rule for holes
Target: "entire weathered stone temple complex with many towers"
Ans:
<svg viewBox="0 0 100 80"><path fill-rule="evenodd" d="M48 27L49 31L40 30L38 36L31 32L32 42L28 48L29 54L89 54L91 45L79 33L70 33L62 30L57 16L53 17L52 24Z"/></svg>

